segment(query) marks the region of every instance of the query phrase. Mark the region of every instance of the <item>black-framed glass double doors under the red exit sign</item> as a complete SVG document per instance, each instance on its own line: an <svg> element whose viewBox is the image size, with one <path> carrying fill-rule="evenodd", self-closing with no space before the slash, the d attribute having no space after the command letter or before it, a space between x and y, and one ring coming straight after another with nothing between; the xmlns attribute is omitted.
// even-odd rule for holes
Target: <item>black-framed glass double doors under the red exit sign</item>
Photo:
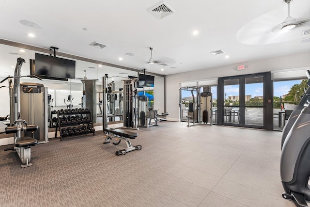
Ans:
<svg viewBox="0 0 310 207"><path fill-rule="evenodd" d="M223 80L223 125L265 128L264 74Z"/></svg>

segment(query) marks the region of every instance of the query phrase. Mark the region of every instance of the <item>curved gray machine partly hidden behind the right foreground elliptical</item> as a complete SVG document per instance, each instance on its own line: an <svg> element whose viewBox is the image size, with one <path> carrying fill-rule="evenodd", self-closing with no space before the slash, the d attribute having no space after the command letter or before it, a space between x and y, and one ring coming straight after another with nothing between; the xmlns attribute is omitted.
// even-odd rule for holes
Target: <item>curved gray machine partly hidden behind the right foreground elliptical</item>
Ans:
<svg viewBox="0 0 310 207"><path fill-rule="evenodd" d="M281 149L283 147L283 143L285 141L285 138L287 137L289 131L291 130L291 128L293 127L293 124L295 123L296 119L298 118L301 110L308 106L308 104L310 103L310 71L307 70L306 75L308 77L308 81L307 81L307 85L308 85L308 89L305 89L305 94L304 96L302 96L299 104L294 108L294 111L291 113L289 119L287 120L286 125L283 128L282 131L282 139L281 139Z"/></svg>

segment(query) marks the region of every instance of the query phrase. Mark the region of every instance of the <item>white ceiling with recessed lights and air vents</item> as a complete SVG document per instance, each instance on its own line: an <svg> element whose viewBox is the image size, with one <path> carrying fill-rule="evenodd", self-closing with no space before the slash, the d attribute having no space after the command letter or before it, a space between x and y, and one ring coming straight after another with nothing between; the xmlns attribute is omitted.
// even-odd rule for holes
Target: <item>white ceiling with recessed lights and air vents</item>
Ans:
<svg viewBox="0 0 310 207"><path fill-rule="evenodd" d="M291 34L271 32L287 16L287 5L282 0L166 0L175 13L158 19L148 10L161 2L4 0L0 7L0 39L41 48L58 47L63 53L134 69L147 68L162 75L310 51L310 42L300 43L302 31L310 29L310 24L295 28ZM294 0L291 16L310 19L310 0ZM21 20L42 28L26 27ZM193 35L194 30L199 31L198 35ZM27 36L30 32L35 37ZM108 47L91 47L93 42ZM154 48L155 60L170 65L148 64L150 47ZM5 54L16 51L7 51L3 45L0 48L0 71L4 71L8 64L16 63L16 56L12 62ZM210 54L218 49L225 53ZM126 56L128 52L135 56ZM8 60L10 63L6 63ZM84 69L88 70L88 65L77 68L77 78L84 77ZM90 70L88 76L100 77L98 71Z"/></svg>

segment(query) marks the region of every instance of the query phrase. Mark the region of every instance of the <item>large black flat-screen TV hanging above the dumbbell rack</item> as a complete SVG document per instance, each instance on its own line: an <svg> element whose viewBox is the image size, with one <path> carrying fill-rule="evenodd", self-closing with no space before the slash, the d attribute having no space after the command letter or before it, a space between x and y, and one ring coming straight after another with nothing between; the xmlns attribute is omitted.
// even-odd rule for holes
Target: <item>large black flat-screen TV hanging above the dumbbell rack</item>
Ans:
<svg viewBox="0 0 310 207"><path fill-rule="evenodd" d="M42 79L68 80L76 78L76 62L73 60L35 53L30 62L30 73Z"/></svg>

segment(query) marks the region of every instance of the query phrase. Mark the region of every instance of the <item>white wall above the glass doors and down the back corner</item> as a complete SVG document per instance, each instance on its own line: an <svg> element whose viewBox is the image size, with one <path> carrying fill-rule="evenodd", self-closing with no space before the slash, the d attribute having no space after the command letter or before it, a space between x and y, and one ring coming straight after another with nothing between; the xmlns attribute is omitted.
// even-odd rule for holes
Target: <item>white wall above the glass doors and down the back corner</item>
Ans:
<svg viewBox="0 0 310 207"><path fill-rule="evenodd" d="M203 80L226 76L238 76L268 72L274 70L286 70L303 68L310 66L310 52L299 53L288 56L280 56L258 61L244 62L248 66L246 70L237 71L237 64L224 65L219 67L207 68L203 70L190 71L168 75L166 77L166 107L169 111L167 120L179 121L179 84L180 81Z"/></svg>

